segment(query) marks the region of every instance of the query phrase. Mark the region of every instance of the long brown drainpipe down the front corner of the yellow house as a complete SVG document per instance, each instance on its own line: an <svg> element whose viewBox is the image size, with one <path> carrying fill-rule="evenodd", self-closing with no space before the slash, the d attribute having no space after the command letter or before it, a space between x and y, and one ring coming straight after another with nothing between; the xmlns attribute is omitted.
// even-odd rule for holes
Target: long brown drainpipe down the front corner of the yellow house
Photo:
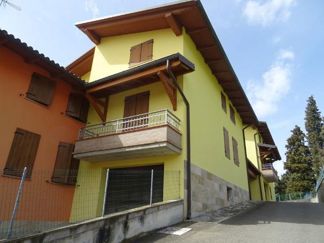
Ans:
<svg viewBox="0 0 324 243"><path fill-rule="evenodd" d="M186 104L186 110L187 110L187 218L191 218L191 160L190 160L190 106L189 102L184 95L181 87L179 86L176 77L173 75L173 72L170 68L170 60L167 60L167 71L170 75L170 77L173 80L174 85L179 90L180 95L182 96L182 99L184 103Z"/></svg>

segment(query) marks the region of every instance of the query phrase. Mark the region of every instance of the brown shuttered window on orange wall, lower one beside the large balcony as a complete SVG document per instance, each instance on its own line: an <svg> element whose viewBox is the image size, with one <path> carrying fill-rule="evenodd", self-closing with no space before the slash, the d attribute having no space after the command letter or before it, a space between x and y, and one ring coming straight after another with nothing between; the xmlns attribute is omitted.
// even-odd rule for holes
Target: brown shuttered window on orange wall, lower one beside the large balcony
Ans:
<svg viewBox="0 0 324 243"><path fill-rule="evenodd" d="M74 145L60 142L52 176L53 183L75 185L79 160L73 158Z"/></svg>

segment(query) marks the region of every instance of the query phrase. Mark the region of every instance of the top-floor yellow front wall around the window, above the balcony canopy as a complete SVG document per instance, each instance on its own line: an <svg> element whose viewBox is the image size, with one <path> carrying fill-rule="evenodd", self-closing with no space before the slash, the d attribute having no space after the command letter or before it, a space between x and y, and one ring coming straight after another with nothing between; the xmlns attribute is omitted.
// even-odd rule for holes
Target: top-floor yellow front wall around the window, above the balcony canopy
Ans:
<svg viewBox="0 0 324 243"><path fill-rule="evenodd" d="M129 67L130 49L149 39L154 41L153 56L152 60L143 63L178 52L183 54L183 36L176 36L171 29L101 38L95 49L90 82L138 66Z"/></svg>

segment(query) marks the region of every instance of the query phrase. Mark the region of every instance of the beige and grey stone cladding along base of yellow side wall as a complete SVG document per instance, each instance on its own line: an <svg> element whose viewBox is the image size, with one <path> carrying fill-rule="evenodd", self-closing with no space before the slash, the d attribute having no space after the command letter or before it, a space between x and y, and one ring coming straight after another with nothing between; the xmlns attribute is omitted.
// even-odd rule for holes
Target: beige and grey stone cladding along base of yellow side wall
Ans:
<svg viewBox="0 0 324 243"><path fill-rule="evenodd" d="M227 200L227 187L233 199ZM191 164L191 217L249 200L249 192Z"/></svg>

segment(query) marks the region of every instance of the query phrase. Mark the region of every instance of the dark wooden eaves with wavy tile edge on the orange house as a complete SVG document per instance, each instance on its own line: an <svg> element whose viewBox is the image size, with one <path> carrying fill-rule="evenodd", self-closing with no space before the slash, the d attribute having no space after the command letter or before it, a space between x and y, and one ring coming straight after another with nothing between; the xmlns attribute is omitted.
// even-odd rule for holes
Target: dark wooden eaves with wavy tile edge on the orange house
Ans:
<svg viewBox="0 0 324 243"><path fill-rule="evenodd" d="M0 29L1 45L23 57L25 63L35 64L45 69L53 78L61 78L75 88L80 88L85 84L83 79L60 66L58 63L55 63L44 54L34 50L32 47L28 47L26 43L22 43L20 39L15 38L14 35L8 34L6 30L2 29Z"/></svg>

